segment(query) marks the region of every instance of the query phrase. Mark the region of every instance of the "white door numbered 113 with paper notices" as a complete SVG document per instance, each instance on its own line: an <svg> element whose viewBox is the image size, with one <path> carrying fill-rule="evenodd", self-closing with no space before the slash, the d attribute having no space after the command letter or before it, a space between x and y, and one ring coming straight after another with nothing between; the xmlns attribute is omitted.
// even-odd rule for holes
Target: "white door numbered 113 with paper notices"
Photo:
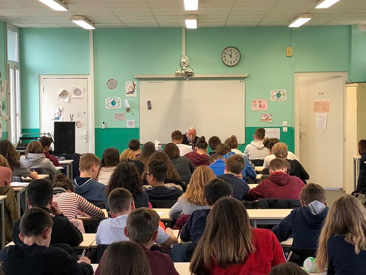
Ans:
<svg viewBox="0 0 366 275"><path fill-rule="evenodd" d="M328 188L343 187L346 77L346 73L295 74L296 153L310 175L308 182ZM317 115L327 115L325 129Z"/></svg>

